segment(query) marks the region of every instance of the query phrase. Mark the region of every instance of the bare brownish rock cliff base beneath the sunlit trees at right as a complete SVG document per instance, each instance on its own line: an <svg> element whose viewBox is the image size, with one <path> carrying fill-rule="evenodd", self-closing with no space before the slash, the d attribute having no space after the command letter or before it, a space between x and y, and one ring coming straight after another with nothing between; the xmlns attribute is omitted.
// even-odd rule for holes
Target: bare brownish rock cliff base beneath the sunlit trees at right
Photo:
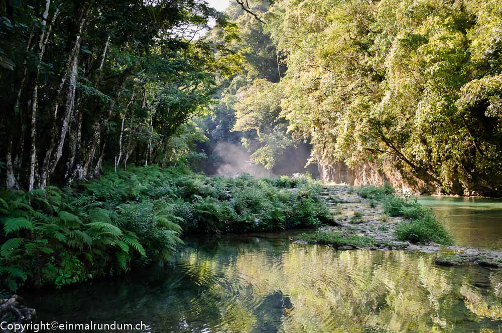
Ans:
<svg viewBox="0 0 502 333"><path fill-rule="evenodd" d="M414 195L460 195L460 196L502 196L502 180L493 179L460 181L455 180L444 186L432 177L417 177L405 168L386 167L371 162L349 168L343 161L331 164L318 163L319 177L323 181L345 183L353 186L382 185L389 182L395 189ZM446 189L446 190L445 190Z"/></svg>

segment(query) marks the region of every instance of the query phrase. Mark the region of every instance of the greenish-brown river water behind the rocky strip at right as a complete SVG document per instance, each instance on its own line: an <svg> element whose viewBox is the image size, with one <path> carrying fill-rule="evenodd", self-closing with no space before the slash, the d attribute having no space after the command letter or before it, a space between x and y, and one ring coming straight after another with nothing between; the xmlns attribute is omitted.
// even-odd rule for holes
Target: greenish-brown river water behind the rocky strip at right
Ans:
<svg viewBox="0 0 502 333"><path fill-rule="evenodd" d="M420 197L453 234L455 244L502 249L502 200L468 197Z"/></svg>

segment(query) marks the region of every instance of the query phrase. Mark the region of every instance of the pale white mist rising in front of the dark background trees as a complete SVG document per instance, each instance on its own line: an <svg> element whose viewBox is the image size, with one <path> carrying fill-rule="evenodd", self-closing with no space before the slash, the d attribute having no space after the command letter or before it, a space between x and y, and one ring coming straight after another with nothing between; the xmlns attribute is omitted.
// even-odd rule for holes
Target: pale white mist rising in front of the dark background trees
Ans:
<svg viewBox="0 0 502 333"><path fill-rule="evenodd" d="M216 170L218 176L236 176L247 173L255 177L275 176L263 165L257 165L250 160L250 153L239 145L228 142L219 142L213 153L217 154L221 162Z"/></svg>

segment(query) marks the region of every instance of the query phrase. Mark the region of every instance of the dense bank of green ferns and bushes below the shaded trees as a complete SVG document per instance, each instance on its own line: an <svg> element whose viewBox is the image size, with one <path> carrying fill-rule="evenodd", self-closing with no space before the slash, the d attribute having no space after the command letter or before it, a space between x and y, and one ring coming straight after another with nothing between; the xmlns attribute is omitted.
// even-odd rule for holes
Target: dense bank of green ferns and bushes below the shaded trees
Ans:
<svg viewBox="0 0 502 333"><path fill-rule="evenodd" d="M317 226L328 210L306 178L205 177L156 166L72 188L0 194L0 282L62 286L167 259L182 232ZM2 289L2 288L0 288Z"/></svg>

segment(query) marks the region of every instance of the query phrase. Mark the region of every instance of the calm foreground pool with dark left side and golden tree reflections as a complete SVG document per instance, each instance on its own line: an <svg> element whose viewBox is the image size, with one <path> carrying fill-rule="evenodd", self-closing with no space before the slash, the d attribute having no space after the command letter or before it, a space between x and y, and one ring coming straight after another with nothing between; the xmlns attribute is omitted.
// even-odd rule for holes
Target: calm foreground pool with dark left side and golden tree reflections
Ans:
<svg viewBox="0 0 502 333"><path fill-rule="evenodd" d="M502 271L268 237L189 241L168 267L30 301L44 320L153 332L500 332ZM99 301L97 301L99 299Z"/></svg>

